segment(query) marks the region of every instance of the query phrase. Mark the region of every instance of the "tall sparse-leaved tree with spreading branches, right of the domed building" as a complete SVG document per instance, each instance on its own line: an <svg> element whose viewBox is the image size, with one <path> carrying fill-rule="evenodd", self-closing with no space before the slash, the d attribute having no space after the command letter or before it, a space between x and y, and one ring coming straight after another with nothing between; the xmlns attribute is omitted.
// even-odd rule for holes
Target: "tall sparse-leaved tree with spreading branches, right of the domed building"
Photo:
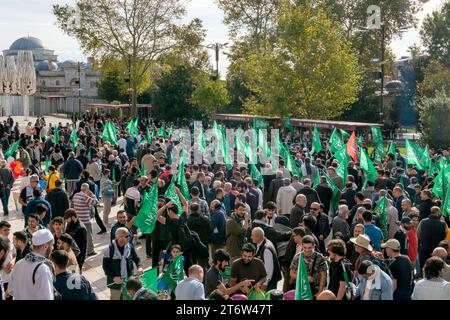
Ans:
<svg viewBox="0 0 450 320"><path fill-rule="evenodd" d="M176 24L186 13L182 0L78 0L74 7L54 5L53 13L86 53L120 59L130 68L134 114L138 88L155 59L203 41L199 20Z"/></svg>

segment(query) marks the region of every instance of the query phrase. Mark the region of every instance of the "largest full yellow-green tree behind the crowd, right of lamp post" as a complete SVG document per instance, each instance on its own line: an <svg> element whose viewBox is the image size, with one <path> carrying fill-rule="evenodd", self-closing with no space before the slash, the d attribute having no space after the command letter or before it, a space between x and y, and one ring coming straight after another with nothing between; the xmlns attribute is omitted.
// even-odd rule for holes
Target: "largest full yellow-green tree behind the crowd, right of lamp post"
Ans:
<svg viewBox="0 0 450 320"><path fill-rule="evenodd" d="M360 74L340 27L310 1L280 2L274 50L241 58L253 114L335 118L355 100Z"/></svg>

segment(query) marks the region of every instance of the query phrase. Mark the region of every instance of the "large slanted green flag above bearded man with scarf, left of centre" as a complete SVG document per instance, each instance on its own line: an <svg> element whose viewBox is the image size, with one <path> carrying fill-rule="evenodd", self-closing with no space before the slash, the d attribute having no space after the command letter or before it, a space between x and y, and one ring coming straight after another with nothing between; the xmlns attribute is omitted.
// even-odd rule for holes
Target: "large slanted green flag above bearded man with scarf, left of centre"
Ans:
<svg viewBox="0 0 450 320"><path fill-rule="evenodd" d="M134 220L134 225L141 229L143 234L151 234L155 228L157 212L158 184L155 183L150 191L144 194L141 209Z"/></svg>

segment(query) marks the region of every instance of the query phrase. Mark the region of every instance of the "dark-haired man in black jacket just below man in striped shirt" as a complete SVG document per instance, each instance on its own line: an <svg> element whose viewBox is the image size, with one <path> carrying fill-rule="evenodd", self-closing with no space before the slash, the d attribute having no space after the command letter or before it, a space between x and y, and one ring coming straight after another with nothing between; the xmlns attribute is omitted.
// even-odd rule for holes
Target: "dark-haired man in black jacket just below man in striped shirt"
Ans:
<svg viewBox="0 0 450 320"><path fill-rule="evenodd" d="M67 209L64 213L64 220L66 221L66 230L80 248L80 254L77 256L78 266L80 267L80 274L83 272L83 264L86 260L87 250L87 230L84 224L79 220L74 209Z"/></svg>

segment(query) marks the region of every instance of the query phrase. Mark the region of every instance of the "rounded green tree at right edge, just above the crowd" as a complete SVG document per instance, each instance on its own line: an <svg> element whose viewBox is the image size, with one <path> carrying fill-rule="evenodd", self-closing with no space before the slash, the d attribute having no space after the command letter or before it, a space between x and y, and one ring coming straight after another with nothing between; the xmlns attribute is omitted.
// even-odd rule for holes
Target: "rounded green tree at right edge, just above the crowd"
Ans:
<svg viewBox="0 0 450 320"><path fill-rule="evenodd" d="M450 145L450 96L444 91L435 97L424 97L418 103L422 139L432 148L448 148Z"/></svg>

